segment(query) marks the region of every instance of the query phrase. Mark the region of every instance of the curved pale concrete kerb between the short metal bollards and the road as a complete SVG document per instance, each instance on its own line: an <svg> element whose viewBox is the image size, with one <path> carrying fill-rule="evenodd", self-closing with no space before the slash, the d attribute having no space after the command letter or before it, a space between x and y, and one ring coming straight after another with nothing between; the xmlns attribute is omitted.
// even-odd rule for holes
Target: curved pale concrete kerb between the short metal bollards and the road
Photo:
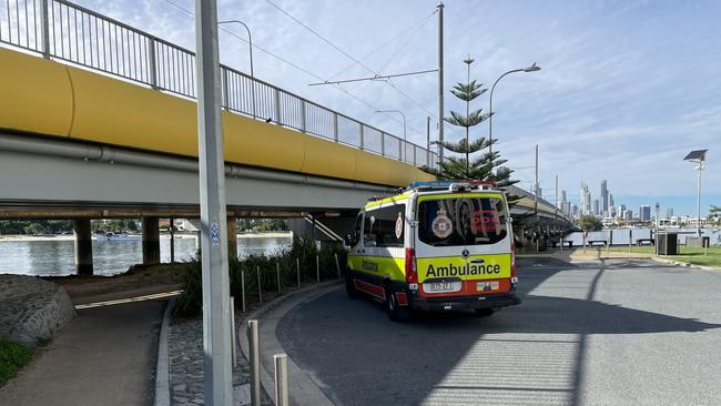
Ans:
<svg viewBox="0 0 721 406"><path fill-rule="evenodd" d="M273 375L265 367L263 354L270 354L270 361L274 354L285 353L275 334L280 319L298 304L313 300L329 290L337 287L338 280L323 282L317 285L311 285L294 291L287 295L281 296L263 307L248 313L243 321L258 319L261 329L261 386L275 403L275 383ZM248 359L250 345L245 334L245 323L238 325L238 339L243 356ZM263 334L265 333L265 334ZM288 366L288 392L292 405L333 405L331 399L321 390L318 383L311 375L301 369L297 364L287 357Z"/></svg>

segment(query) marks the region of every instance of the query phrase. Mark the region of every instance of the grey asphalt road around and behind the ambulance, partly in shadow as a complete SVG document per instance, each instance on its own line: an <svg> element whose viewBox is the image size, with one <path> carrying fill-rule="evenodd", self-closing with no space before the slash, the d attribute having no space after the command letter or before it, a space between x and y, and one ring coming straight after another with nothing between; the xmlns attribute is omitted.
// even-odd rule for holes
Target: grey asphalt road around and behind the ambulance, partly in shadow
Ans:
<svg viewBox="0 0 721 406"><path fill-rule="evenodd" d="M343 287L288 312L283 348L338 405L718 405L721 272L520 260L524 303L393 323Z"/></svg>

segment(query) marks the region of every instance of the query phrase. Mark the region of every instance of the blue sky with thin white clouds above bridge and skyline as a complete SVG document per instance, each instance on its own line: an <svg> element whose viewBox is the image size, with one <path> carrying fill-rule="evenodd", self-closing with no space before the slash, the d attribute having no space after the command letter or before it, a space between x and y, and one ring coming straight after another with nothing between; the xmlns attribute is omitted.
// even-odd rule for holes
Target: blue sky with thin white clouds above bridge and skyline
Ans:
<svg viewBox="0 0 721 406"><path fill-rule="evenodd" d="M77 2L195 48L192 0ZM448 90L466 80L468 55L475 60L471 79L488 89L508 70L541 67L504 78L494 92L495 149L516 170L520 186L532 184L538 144L539 182L551 202L556 175L572 202L581 182L597 199L606 179L617 205L636 212L639 204L659 202L662 213L673 207L676 214L694 214L697 173L682 159L708 149L702 212L721 205L720 1L448 0L445 6L446 116L465 111ZM435 11L429 0L219 1L219 20L242 20L252 30L260 47L253 53L257 78L396 135L403 134L400 115L375 111L402 110L408 139L420 145L428 115L431 139L437 136L437 73L343 89L308 84L436 69ZM221 31L221 61L247 72L245 29L224 27L233 34ZM488 93L473 108L488 111ZM446 140L463 136L449 124L445 129ZM471 130L471 136L487 134L487 123Z"/></svg>

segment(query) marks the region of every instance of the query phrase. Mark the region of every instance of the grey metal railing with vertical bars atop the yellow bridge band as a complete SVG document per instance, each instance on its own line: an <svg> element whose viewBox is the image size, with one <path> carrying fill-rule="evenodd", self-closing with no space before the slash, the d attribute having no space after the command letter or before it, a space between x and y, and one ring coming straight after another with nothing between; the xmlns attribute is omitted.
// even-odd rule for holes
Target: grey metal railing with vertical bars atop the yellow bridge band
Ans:
<svg viewBox="0 0 721 406"><path fill-rule="evenodd" d="M195 98L195 54L64 0L0 2L0 43ZM437 153L221 65L223 108L416 166Z"/></svg>

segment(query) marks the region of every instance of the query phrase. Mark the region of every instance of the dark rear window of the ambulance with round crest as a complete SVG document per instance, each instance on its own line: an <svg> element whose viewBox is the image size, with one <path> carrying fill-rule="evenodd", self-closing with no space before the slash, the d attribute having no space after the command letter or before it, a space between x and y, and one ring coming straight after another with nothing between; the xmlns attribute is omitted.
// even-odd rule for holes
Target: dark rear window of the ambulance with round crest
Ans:
<svg viewBox="0 0 721 406"><path fill-rule="evenodd" d="M418 204L418 237L428 245L495 244L507 235L500 197L464 196Z"/></svg>

